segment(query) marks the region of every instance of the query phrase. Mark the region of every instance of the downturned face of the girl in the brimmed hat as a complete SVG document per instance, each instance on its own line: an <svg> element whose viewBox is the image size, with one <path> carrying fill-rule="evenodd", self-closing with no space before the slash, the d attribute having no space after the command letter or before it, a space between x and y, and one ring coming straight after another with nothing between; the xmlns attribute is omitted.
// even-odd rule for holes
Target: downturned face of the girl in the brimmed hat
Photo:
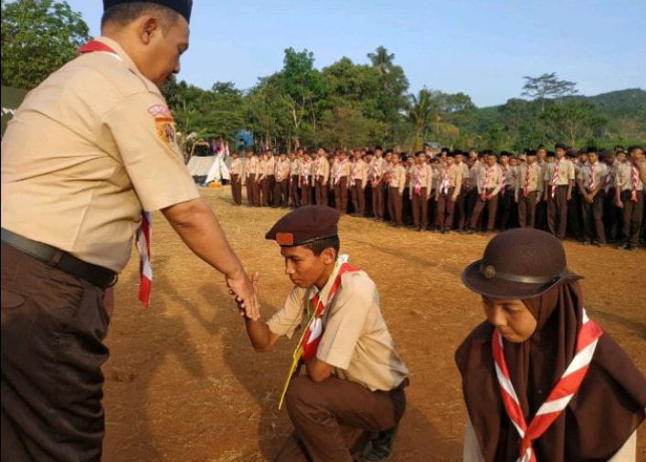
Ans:
<svg viewBox="0 0 646 462"><path fill-rule="evenodd" d="M484 315L506 341L521 343L536 330L536 320L521 299L488 299L482 297Z"/></svg>

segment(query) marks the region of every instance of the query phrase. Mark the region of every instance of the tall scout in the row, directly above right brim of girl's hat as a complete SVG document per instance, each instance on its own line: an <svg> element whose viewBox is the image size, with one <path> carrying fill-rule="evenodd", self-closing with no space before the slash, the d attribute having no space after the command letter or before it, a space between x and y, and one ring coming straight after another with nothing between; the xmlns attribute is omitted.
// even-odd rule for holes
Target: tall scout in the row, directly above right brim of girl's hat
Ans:
<svg viewBox="0 0 646 462"><path fill-rule="evenodd" d="M566 146L555 146L556 162L548 163L545 170L545 202L547 227L559 239L565 239L567 229L567 203L572 199L575 180L574 163L566 159Z"/></svg>

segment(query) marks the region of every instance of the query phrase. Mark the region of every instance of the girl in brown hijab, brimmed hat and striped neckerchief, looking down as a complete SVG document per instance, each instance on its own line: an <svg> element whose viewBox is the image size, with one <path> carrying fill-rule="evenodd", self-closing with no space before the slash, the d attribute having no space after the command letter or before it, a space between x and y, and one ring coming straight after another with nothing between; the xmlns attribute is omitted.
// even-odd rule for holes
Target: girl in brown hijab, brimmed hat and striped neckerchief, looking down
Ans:
<svg viewBox="0 0 646 462"><path fill-rule="evenodd" d="M469 462L636 460L646 380L588 318L561 243L543 231L494 237L462 281L487 320L456 352Z"/></svg>

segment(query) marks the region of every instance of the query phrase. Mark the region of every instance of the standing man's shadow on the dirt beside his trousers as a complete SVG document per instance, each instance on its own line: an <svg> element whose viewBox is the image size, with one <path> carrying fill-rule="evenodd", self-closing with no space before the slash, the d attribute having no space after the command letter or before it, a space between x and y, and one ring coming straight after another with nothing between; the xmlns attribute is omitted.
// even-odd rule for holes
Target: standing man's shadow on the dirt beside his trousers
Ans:
<svg viewBox="0 0 646 462"><path fill-rule="evenodd" d="M109 383L109 386L116 394L122 391L127 399L126 404L121 404L119 396L113 398L111 407L114 408L114 413L109 412L106 416L107 439L110 439L111 427L121 427L119 433L125 440L119 447L112 445L110 455L112 460L139 461L164 458L154 445L155 435L151 421L156 416L151 415L147 404L150 403L152 390L156 386L164 386L158 381L157 370L164 364L167 356L175 356L191 377L206 380L202 355L189 341L190 336L184 320L179 315L167 314L169 306L185 306L186 301L175 290L172 280L165 276L166 263L165 257L155 257L154 285L160 289L164 288L164 296L154 298L154 305L150 309L154 312L141 308L141 303L137 299L139 276L136 272L125 283L119 283L123 290L117 288L117 293L124 293L123 297L127 299L118 295L116 316L120 315L122 306L134 307L133 310L138 311L129 315L131 329L127 334L123 331L111 331L110 335L113 350L117 350L119 343L123 342L127 344L129 353L113 357L104 368L106 381L116 382ZM136 331L140 331L141 334L132 335L132 332ZM124 406L126 409L123 409ZM123 424L113 420L118 419L118 415L122 413L127 415L128 422L132 422L131 435L125 437ZM111 418L111 415L115 416Z"/></svg>

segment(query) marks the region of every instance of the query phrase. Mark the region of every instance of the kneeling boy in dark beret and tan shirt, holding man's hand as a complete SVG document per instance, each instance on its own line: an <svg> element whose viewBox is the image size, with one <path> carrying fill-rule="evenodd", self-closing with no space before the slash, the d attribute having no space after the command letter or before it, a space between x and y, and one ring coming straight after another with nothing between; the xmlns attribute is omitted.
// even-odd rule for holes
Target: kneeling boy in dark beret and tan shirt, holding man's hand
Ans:
<svg viewBox="0 0 646 462"><path fill-rule="evenodd" d="M302 206L265 236L281 246L294 288L268 322L246 319L251 343L268 351L305 327L284 394L295 431L280 461L385 459L406 407L408 369L379 310L375 283L338 255L339 215L332 207Z"/></svg>

